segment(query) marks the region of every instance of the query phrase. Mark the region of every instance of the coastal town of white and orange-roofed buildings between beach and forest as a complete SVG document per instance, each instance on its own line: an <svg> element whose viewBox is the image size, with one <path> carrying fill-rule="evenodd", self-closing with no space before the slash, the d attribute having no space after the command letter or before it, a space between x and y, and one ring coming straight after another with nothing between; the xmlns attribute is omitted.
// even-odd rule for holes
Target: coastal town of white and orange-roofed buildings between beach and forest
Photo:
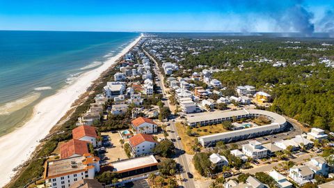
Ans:
<svg viewBox="0 0 334 188"><path fill-rule="evenodd" d="M285 83L220 79L251 69L250 62L285 68L307 61L255 55L221 66L186 65L189 56L220 45L242 49L240 40L145 33L87 88L75 119L41 141L52 141L45 144L52 149L42 150L43 173L26 187L333 187L333 129L273 110L273 91Z"/></svg>

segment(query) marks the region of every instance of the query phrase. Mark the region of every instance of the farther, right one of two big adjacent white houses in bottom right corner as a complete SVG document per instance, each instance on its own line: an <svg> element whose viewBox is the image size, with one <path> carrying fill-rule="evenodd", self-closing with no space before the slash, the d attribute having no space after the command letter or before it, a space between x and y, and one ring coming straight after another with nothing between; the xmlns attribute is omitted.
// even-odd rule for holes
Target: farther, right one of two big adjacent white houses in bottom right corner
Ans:
<svg viewBox="0 0 334 188"><path fill-rule="evenodd" d="M313 157L310 161L303 163L317 175L328 175L329 166L324 157Z"/></svg>

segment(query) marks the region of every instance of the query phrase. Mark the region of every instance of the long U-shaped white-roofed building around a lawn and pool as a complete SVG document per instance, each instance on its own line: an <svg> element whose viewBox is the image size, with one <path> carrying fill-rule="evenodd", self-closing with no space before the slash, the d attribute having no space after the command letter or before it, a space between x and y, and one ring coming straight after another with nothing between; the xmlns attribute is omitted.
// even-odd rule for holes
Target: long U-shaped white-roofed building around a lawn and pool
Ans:
<svg viewBox="0 0 334 188"><path fill-rule="evenodd" d="M217 141L230 143L234 141L241 141L245 139L252 139L259 136L282 132L286 130L287 120L283 116L271 111L264 111L258 109L242 109L237 111L215 111L209 113L200 113L196 115L189 115L186 117L186 123L194 127L196 125L216 125L225 120L234 120L241 118L257 118L265 117L271 120L269 125L262 125L257 127L250 127L243 130L235 130L231 132L222 132L218 134L211 134L207 136L198 137L198 141L202 146L214 146Z"/></svg>

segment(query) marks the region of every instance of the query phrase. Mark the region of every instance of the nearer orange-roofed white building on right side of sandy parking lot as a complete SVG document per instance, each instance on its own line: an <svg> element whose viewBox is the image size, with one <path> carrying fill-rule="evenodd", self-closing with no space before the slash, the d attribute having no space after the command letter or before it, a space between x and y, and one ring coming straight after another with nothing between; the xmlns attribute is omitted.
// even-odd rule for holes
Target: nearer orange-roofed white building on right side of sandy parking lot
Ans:
<svg viewBox="0 0 334 188"><path fill-rule="evenodd" d="M136 134L129 139L129 144L132 148L132 153L136 156L152 154L153 148L158 142L154 140L150 134Z"/></svg>

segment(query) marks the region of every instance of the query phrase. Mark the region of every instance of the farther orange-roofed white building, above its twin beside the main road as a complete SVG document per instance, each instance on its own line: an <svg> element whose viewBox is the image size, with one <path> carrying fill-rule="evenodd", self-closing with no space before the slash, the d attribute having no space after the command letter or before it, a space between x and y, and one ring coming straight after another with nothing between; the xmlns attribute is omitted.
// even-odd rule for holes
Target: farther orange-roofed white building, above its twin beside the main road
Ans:
<svg viewBox="0 0 334 188"><path fill-rule="evenodd" d="M150 118L138 117L131 122L133 130L138 133L152 134L158 132L157 123Z"/></svg>

